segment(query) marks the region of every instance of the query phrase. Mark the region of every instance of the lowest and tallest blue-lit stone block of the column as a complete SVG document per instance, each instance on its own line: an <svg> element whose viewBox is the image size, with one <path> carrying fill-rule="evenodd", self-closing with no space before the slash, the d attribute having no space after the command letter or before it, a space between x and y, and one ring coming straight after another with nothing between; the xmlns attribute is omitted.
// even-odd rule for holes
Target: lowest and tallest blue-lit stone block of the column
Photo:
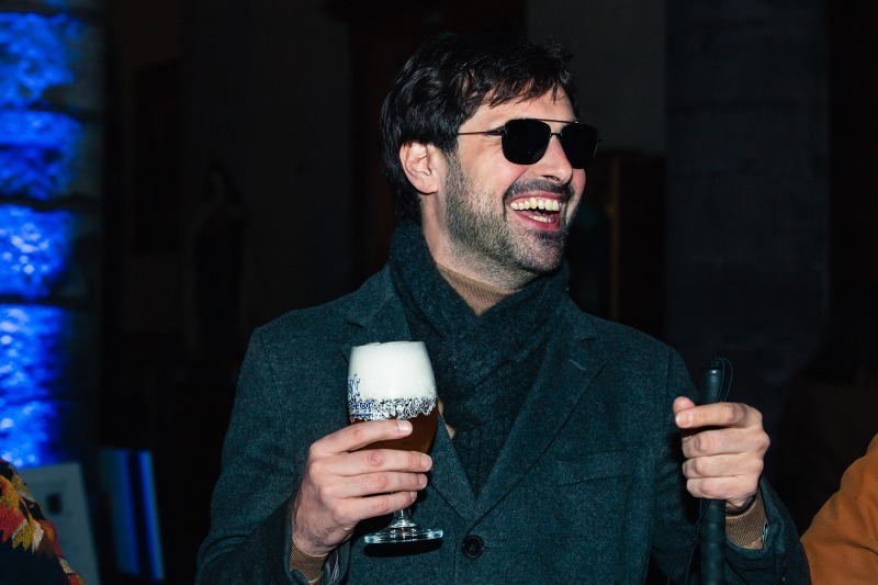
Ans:
<svg viewBox="0 0 878 585"><path fill-rule="evenodd" d="M59 461L57 381L67 367L60 308L0 305L0 458L20 468Z"/></svg>

